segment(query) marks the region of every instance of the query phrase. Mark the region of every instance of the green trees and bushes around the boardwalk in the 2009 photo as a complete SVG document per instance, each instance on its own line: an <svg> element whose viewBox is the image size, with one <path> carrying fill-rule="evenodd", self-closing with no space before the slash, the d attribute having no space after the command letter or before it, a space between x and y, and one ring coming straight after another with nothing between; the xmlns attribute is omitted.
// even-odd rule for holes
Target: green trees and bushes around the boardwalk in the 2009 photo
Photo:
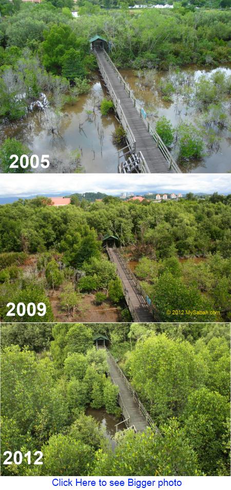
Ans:
<svg viewBox="0 0 231 490"><path fill-rule="evenodd" d="M107 196L92 204L75 199L74 205L54 208L38 197L1 206L2 319L7 319L9 301L42 301L47 305L44 321L52 321L48 293L61 286L67 313L81 308L81 295L91 291L100 293L95 296L99 304L107 295L119 304L121 282L102 248L109 234L125 260L137 260L135 273L156 319L228 320L231 213L229 197L221 198L136 203ZM195 257L201 259L195 262ZM123 314L129 321L127 309Z"/></svg>

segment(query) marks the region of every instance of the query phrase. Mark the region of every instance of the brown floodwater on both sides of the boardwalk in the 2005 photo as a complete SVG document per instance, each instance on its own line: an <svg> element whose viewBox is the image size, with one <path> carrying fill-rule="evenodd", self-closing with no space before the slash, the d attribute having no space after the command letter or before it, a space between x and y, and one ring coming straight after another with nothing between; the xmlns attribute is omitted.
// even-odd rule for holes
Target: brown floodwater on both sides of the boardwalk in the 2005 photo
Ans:
<svg viewBox="0 0 231 490"><path fill-rule="evenodd" d="M231 68L221 67L231 74ZM189 121L197 125L200 113L195 106L187 104L178 93L172 95L171 101L165 101L156 89L160 79L166 80L168 72L154 72L151 83L145 86L141 72L126 69L120 70L122 76L129 83L134 95L147 112L148 119L155 127L158 118L165 116L173 126L182 121ZM213 72L198 67L182 68L185 73L195 81L204 74ZM174 72L172 72L174 73ZM150 80L149 80L150 81ZM193 83L192 82L192 85ZM87 173L117 173L118 147L112 143L112 132L118 127L114 114L102 116L100 102L106 96L105 87L97 74L92 82L91 91L79 97L73 105L65 105L59 121L59 130L52 133L51 128L56 127L56 116L52 108L46 111L33 111L30 115L7 128L0 126L0 144L8 137L16 138L26 144L33 154L41 157L49 155L49 168L41 166L36 172L72 173L75 165L70 164L70 154L78 150L83 171ZM94 111L92 113L92 109ZM230 103L224 103L227 115L230 115ZM190 168L183 172L222 173L231 169L231 134L227 129L216 129L216 151L206 152L203 160L193 162ZM35 170L33 171L35 172Z"/></svg>

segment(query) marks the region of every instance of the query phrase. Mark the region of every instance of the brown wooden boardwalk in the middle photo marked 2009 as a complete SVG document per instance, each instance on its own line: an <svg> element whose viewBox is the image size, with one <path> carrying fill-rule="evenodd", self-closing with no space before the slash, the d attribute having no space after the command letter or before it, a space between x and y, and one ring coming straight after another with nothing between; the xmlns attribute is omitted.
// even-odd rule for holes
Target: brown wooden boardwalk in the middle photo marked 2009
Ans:
<svg viewBox="0 0 231 490"><path fill-rule="evenodd" d="M117 267L117 273L122 281L124 296L133 320L144 323L154 322L153 315L139 290L138 281L133 278L132 273L126 267L119 251L116 248L107 248L107 252L111 262L115 263Z"/></svg>

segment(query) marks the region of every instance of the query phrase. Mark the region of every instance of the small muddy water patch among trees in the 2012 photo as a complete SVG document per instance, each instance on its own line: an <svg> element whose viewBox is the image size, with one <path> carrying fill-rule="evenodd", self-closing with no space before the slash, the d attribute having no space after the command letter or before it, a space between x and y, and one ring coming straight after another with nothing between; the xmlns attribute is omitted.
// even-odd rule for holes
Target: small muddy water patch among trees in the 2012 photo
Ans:
<svg viewBox="0 0 231 490"><path fill-rule="evenodd" d="M100 422L101 427L103 427L105 431L105 436L109 440L112 449L115 447L115 441L112 439L115 435L116 429L115 424L118 424L119 420L116 419L113 415L109 414L103 408L95 409L95 408L87 408L86 415L91 415L97 422ZM119 425L119 430L125 429L126 426L124 423Z"/></svg>

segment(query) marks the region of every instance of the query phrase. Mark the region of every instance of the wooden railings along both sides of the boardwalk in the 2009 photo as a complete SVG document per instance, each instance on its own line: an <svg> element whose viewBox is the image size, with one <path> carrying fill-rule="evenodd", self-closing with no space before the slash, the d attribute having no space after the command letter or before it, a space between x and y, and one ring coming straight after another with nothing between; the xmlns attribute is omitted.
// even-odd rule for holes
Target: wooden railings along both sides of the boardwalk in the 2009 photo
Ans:
<svg viewBox="0 0 231 490"><path fill-rule="evenodd" d="M155 307L153 305L149 305L148 302L147 302L147 294L145 293L145 291L143 290L143 288L141 287L140 285L140 282L139 280L137 279L137 277L133 274L133 272L130 270L129 267L127 267L127 264L126 262L124 261L124 258L122 257L120 251L118 248L116 247L113 247L112 248L113 251L116 253L118 259L119 259L119 262L120 262L120 265L121 267L123 268L123 270L127 273L127 275L129 276L129 278L131 279L132 283L134 286L136 286L136 289L138 291L138 293L140 294L140 296L142 296L143 298L143 302L145 304L145 306L148 308L148 310L150 311L150 313L153 315L153 317L155 317L155 319L157 321L160 321L160 318L159 318L159 315L155 309ZM108 246L106 246L106 250L107 250L107 253L109 255L109 258L111 260L111 262L113 262L113 257L111 255L111 252L110 252L110 249ZM117 270L118 272L118 275L120 277L120 271ZM120 279L122 280L122 278L120 277ZM123 281L122 281L122 285L123 285ZM127 305L129 307L129 310L131 312L131 316L133 317L133 319L136 321L136 322L140 322L139 320L139 317L137 316L136 312L133 310L133 308L131 307L130 305L130 299L129 299L129 295L127 293L127 290L125 289L124 285L123 285L123 291L124 291L124 296L125 296L125 299L126 299L126 302L127 302ZM153 318L154 319L154 318Z"/></svg>

